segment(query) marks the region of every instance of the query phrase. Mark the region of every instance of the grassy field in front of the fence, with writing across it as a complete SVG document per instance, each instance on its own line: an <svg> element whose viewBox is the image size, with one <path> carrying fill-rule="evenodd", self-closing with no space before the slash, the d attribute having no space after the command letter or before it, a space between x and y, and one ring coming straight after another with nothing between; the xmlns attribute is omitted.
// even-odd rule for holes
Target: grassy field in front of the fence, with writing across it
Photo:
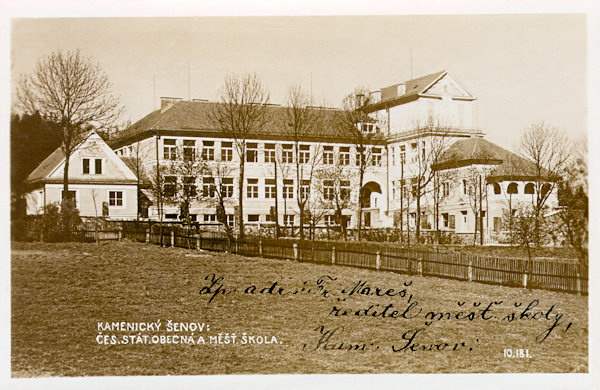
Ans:
<svg viewBox="0 0 600 390"><path fill-rule="evenodd" d="M132 242L12 250L14 377L588 371L587 297Z"/></svg>

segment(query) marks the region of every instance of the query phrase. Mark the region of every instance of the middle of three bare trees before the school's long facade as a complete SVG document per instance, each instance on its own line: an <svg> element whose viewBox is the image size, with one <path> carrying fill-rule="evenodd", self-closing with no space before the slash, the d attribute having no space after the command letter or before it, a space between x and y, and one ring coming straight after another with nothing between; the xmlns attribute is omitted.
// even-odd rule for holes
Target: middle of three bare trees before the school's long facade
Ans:
<svg viewBox="0 0 600 390"><path fill-rule="evenodd" d="M290 87L287 107L283 116L282 128L294 142L294 163L296 165L296 201L300 213L300 240L304 239L305 210L310 197L310 187L316 165L320 162L320 146L311 150L310 145L301 145L310 135L318 130L321 116L313 108L312 99L300 85ZM309 188L307 194L305 189Z"/></svg>

